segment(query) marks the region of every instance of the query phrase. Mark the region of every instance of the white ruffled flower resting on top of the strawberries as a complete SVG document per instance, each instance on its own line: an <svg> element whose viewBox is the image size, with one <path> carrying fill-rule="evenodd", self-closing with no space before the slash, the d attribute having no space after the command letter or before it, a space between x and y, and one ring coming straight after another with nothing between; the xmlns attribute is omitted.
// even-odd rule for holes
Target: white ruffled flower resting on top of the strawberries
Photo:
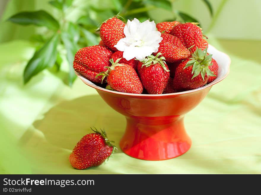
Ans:
<svg viewBox="0 0 261 195"><path fill-rule="evenodd" d="M120 39L114 47L123 51L123 57L127 60L133 58L141 60L157 52L163 39L154 21L146 20L141 23L137 18L128 20L124 34L126 37Z"/></svg>

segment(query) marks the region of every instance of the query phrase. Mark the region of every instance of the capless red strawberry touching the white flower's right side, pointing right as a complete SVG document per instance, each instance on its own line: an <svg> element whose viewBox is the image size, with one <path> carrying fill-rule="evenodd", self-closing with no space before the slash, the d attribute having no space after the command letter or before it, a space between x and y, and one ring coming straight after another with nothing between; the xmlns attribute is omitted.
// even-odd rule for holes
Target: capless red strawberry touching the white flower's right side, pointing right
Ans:
<svg viewBox="0 0 261 195"><path fill-rule="evenodd" d="M176 36L161 34L163 40L159 43L158 52L162 53L166 62L176 62L190 57L190 51L182 44ZM153 53L156 55L157 53Z"/></svg>

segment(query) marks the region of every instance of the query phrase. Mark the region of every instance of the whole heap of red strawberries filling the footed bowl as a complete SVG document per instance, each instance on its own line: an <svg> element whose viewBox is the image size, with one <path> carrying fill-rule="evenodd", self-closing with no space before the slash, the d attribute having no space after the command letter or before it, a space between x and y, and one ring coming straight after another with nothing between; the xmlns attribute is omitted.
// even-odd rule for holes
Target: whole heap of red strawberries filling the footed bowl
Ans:
<svg viewBox="0 0 261 195"><path fill-rule="evenodd" d="M74 70L94 83L106 82L107 89L125 93L168 94L202 87L217 78L218 64L207 53L208 42L197 25L158 23L163 40L157 53L127 61L123 51L114 47L125 37L125 23L110 18L100 27L99 45L77 51Z"/></svg>

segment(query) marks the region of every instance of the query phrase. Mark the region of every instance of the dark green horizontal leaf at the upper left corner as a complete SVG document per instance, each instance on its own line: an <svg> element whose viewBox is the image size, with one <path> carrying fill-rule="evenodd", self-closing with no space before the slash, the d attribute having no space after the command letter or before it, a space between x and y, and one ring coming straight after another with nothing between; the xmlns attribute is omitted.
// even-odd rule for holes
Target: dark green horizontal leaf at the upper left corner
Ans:
<svg viewBox="0 0 261 195"><path fill-rule="evenodd" d="M20 12L11 16L8 21L20 25L45 26L50 30L58 30L59 23L47 12L40 10L36 12Z"/></svg>

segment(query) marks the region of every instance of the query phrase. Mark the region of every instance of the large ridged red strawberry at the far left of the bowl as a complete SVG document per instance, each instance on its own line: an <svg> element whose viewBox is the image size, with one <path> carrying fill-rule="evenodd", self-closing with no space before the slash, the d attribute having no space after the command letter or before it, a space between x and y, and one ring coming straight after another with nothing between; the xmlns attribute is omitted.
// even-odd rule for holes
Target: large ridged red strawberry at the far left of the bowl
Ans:
<svg viewBox="0 0 261 195"><path fill-rule="evenodd" d="M106 71L106 67L111 65L111 55L112 51L105 46L95 45L79 49L74 56L74 70L92 82L101 83L102 76L96 75Z"/></svg>

